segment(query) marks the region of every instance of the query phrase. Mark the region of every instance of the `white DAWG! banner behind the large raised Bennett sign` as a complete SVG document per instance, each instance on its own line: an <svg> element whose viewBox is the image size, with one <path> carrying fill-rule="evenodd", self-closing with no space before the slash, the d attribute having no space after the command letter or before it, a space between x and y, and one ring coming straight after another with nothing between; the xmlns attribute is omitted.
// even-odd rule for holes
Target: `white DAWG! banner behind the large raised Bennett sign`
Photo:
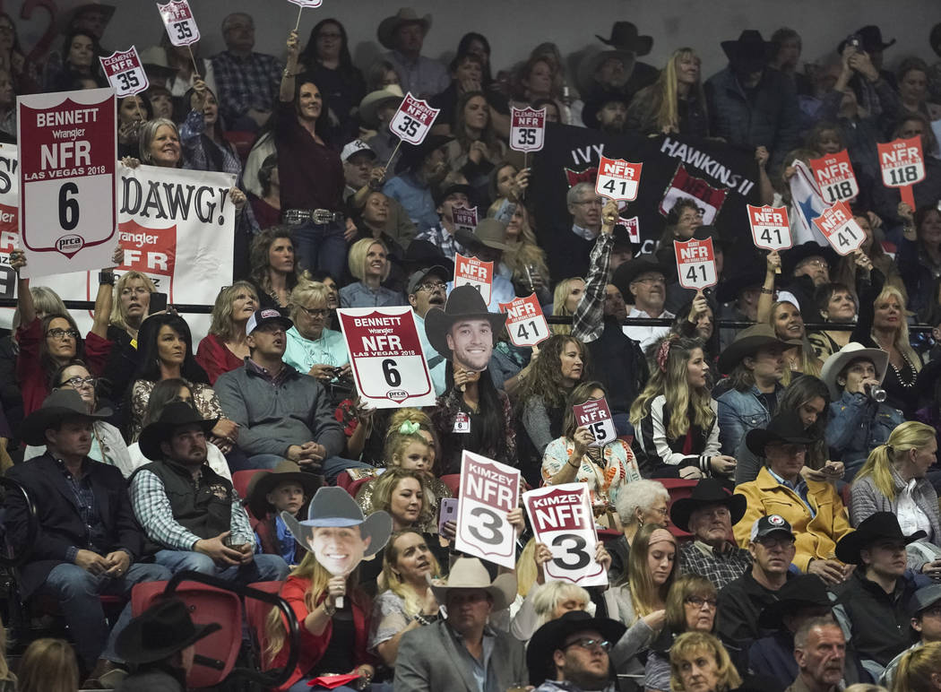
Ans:
<svg viewBox="0 0 941 692"><path fill-rule="evenodd" d="M9 252L19 246L16 148L0 149L0 297L15 298L16 277ZM120 275L136 270L146 274L170 305L211 304L219 288L231 284L235 207L228 173L203 170L118 167L118 242L124 262ZM63 300L94 300L98 272L37 277L32 285L49 286ZM11 309L0 310L0 326L9 327ZM83 332L91 316L72 311ZM194 340L209 330L210 315L184 315ZM195 349L194 344L194 349Z"/></svg>

